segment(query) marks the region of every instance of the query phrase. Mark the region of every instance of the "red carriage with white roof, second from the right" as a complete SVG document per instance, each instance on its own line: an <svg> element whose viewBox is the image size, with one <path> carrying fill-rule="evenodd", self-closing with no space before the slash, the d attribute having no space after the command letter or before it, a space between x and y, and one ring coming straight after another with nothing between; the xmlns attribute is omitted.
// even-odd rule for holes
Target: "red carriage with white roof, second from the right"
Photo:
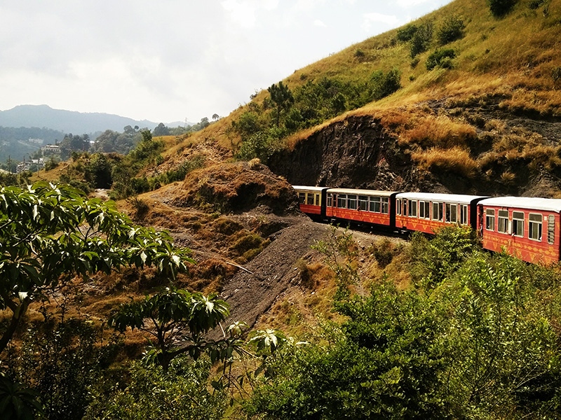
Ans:
<svg viewBox="0 0 561 420"><path fill-rule="evenodd" d="M481 195L399 193L396 196L396 228L434 233L446 225L477 227L476 204Z"/></svg>

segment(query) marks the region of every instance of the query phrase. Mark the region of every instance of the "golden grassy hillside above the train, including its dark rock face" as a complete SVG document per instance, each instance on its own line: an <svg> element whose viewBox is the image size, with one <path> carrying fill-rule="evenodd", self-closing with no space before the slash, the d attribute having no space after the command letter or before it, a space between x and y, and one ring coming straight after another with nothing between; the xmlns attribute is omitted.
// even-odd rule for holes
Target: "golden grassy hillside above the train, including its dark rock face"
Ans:
<svg viewBox="0 0 561 420"><path fill-rule="evenodd" d="M213 139L290 183L557 196L560 18L556 0L501 18L485 0L454 1L282 80L295 102L279 128L264 90L189 144ZM412 28L430 35L414 55ZM372 101L372 80L396 74L400 87Z"/></svg>

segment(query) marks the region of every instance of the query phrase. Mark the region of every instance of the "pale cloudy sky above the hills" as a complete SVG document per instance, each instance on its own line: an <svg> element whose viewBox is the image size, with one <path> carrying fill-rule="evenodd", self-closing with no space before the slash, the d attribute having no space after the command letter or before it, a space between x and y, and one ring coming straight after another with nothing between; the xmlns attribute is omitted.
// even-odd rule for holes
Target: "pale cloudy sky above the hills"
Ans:
<svg viewBox="0 0 561 420"><path fill-rule="evenodd" d="M449 2L1 0L0 110L198 123Z"/></svg>

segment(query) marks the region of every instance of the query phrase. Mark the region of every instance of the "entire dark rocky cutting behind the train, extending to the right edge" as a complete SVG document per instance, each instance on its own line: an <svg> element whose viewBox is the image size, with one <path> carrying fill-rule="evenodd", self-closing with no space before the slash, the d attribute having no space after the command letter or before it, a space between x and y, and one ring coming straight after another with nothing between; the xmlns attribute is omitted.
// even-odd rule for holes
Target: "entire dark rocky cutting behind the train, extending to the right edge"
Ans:
<svg viewBox="0 0 561 420"><path fill-rule="evenodd" d="M372 116L332 123L292 150L273 155L269 167L292 185L541 197L555 196L561 189L561 167L555 157L561 153L559 120L469 106L448 108L441 102L425 105L434 115L475 127L478 138L468 148L481 166L473 176L419 169L410 151L398 145L396 134ZM489 121L501 129L489 131ZM532 150L554 155L536 157ZM489 161L492 164L485 164ZM515 174L515 181L501 179L499 175L507 171Z"/></svg>

